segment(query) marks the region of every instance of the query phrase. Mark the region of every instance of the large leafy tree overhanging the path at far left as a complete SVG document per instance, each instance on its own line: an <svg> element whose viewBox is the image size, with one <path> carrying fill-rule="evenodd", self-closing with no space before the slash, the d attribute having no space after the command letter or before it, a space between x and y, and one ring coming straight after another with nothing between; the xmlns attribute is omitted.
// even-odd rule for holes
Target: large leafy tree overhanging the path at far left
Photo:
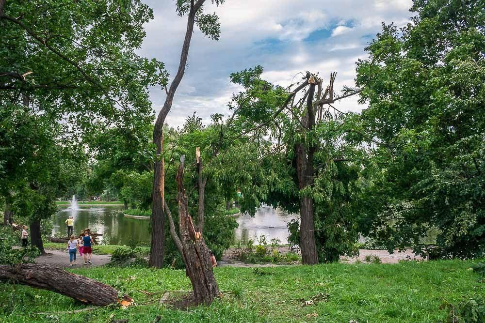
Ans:
<svg viewBox="0 0 485 323"><path fill-rule="evenodd" d="M81 147L94 120L123 128L153 118L148 87L164 85L167 73L161 62L135 54L145 36L143 24L152 18L152 10L138 0L0 1L0 107L19 127L15 136L13 128L2 132L6 147L19 149L2 149L0 160L21 170L12 175L12 168L2 168L7 175L1 192L13 200L22 196L16 194L19 187L38 188L45 205L31 220L31 234L41 250L38 217L52 214L47 205L58 189L50 186L59 164L49 159L48 148ZM26 129L25 122L35 126ZM40 147L46 158L38 157Z"/></svg>

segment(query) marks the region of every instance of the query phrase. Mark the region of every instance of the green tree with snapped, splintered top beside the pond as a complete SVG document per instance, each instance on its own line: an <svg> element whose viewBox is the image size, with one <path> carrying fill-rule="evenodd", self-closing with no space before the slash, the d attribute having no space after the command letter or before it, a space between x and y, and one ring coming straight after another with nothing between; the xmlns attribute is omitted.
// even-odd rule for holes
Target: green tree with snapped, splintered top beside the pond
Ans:
<svg viewBox="0 0 485 323"><path fill-rule="evenodd" d="M257 66L231 75L244 87L234 95L224 134L228 142L244 142L227 156L237 166L231 178L241 189L242 211L254 214L261 202L299 211L301 225L291 224L291 238L298 240L306 264L355 254L352 203L360 187L361 152L347 140L355 134L347 123L352 114L331 104L356 91L334 97L336 73L326 89L310 73L286 89L261 79L262 71Z"/></svg>

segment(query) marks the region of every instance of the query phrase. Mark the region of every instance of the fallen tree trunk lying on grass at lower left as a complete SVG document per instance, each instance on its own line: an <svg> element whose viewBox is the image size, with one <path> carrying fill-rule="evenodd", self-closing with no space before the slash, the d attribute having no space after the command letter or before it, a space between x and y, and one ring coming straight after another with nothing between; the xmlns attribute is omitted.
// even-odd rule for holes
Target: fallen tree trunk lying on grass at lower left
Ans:
<svg viewBox="0 0 485 323"><path fill-rule="evenodd" d="M118 291L97 280L37 263L0 266L0 281L57 292L86 304L106 306L119 302ZM125 301L131 302L127 295Z"/></svg>

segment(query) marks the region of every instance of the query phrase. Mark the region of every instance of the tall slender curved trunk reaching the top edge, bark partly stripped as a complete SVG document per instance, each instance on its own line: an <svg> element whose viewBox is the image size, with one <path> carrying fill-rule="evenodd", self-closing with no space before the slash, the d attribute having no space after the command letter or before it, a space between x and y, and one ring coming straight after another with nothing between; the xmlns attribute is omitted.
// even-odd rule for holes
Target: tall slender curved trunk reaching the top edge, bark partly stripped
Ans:
<svg viewBox="0 0 485 323"><path fill-rule="evenodd" d="M152 239L151 239L151 249L150 249L150 265L162 268L163 265L163 242L165 239L164 235L164 221L163 216L163 189L164 189L164 174L163 174L163 124L165 123L165 118L168 112L172 108L175 92L177 91L178 85L182 80L185 73L185 66L187 65L187 58L189 56L190 41L192 39L192 34L194 33L194 22L195 13L204 4L205 0L198 0L195 4L191 1L189 15L187 18L187 30L185 31L184 43L182 46L182 53L180 54L180 62L178 64L178 71L170 89L167 92L167 97L165 98L165 103L163 104L160 113L158 114L157 121L153 128L153 142L157 145L157 155L160 157L159 160L155 162L155 176L153 178L153 191L152 191Z"/></svg>

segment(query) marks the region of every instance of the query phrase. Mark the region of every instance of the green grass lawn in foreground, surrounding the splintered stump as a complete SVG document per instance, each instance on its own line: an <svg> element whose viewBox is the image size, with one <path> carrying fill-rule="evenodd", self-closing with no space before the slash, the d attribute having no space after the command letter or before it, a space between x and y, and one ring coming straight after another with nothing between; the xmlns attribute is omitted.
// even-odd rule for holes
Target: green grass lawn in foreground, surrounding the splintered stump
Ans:
<svg viewBox="0 0 485 323"><path fill-rule="evenodd" d="M158 304L162 292L190 290L183 270L150 268L74 269L134 298L136 306L76 314L36 315L84 308L65 296L0 284L2 322L444 322L447 309L471 294L485 294L473 261L404 261L399 264L327 264L214 270L227 291L209 307L179 311ZM73 286L75 288L75 286ZM149 296L142 291L154 293ZM323 297L325 296L325 297ZM304 301L314 300L303 306Z"/></svg>

